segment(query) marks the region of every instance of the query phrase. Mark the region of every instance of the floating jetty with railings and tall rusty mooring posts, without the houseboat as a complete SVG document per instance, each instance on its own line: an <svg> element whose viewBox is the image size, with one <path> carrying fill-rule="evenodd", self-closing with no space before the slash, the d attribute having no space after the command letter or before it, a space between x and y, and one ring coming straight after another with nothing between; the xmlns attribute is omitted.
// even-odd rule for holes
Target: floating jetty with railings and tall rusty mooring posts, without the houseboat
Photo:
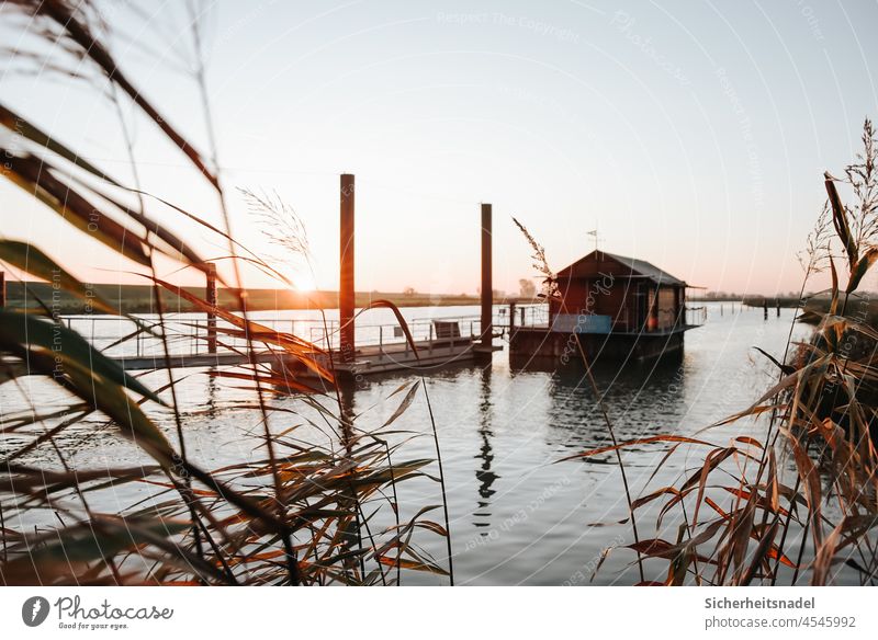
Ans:
<svg viewBox="0 0 878 640"><path fill-rule="evenodd" d="M371 324L358 318L354 306L356 274L356 182L342 174L339 184L339 290L338 318L333 320L266 319L248 313L248 320L279 333L292 333L323 350L315 358L342 377L383 374L394 370L430 370L452 364L489 357L502 346L510 322L506 309L496 309L492 277L492 205L480 204L482 273L481 313L459 318L424 318L407 322ZM209 305L218 304L216 270L205 268L205 296ZM513 302L513 309L515 302ZM525 319L524 309L520 315ZM126 370L142 372L172 368L234 367L270 364L277 373L302 376L309 372L282 348L258 336L250 344L240 336L230 338L232 325L216 312L166 315L155 332L127 317L67 316L61 321L83 335L95 348ZM144 317L142 322L151 321ZM161 335L164 334L164 340ZM166 348L167 343L167 348Z"/></svg>

